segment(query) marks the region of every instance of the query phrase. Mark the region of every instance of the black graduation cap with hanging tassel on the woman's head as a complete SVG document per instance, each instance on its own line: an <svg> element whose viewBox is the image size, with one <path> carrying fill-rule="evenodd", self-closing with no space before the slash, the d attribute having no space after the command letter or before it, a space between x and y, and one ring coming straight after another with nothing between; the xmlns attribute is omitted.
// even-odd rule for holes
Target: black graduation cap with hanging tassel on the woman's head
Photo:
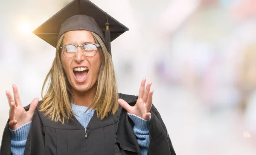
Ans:
<svg viewBox="0 0 256 155"><path fill-rule="evenodd" d="M73 30L98 34L111 55L111 41L129 29L90 0L73 0L33 33L56 48L59 37Z"/></svg>

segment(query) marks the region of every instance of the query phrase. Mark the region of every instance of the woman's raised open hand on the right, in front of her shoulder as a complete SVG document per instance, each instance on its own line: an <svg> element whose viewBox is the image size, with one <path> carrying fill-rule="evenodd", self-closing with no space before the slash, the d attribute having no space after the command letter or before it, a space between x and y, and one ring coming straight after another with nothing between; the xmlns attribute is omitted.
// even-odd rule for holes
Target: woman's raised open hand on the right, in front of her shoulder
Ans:
<svg viewBox="0 0 256 155"><path fill-rule="evenodd" d="M152 82L148 82L145 89L146 78L141 81L139 97L135 106L130 106L125 100L118 99L118 103L130 114L134 114L143 118L144 120L149 120L150 109L152 106L152 96L153 90L150 90Z"/></svg>

